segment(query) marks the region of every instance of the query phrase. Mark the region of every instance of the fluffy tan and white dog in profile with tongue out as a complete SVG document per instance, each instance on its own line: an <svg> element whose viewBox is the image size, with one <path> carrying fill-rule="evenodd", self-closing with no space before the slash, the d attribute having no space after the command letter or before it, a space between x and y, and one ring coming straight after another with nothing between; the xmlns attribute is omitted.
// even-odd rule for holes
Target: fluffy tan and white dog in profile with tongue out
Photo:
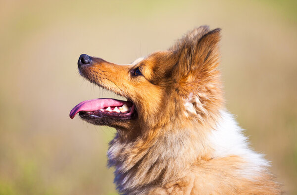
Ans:
<svg viewBox="0 0 297 195"><path fill-rule="evenodd" d="M127 99L86 100L70 112L117 130L107 155L120 194L282 193L225 108L220 31L198 27L127 65L79 57L84 78Z"/></svg>

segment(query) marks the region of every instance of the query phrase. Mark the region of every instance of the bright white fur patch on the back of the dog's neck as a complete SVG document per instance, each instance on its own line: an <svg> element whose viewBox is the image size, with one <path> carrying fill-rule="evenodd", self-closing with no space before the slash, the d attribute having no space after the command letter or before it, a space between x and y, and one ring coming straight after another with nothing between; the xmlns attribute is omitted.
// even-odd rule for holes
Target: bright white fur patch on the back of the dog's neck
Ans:
<svg viewBox="0 0 297 195"><path fill-rule="evenodd" d="M269 163L262 154L250 149L247 137L233 115L227 110L222 110L220 114L221 119L209 136L210 145L214 149L213 157L240 156L247 162L242 176L251 179L264 171Z"/></svg>

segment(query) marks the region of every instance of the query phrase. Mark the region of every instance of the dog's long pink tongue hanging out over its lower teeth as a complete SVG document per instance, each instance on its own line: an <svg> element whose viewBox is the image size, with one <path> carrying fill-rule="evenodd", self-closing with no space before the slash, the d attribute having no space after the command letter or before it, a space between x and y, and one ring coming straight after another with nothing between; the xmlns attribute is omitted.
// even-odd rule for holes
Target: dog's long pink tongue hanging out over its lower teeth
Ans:
<svg viewBox="0 0 297 195"><path fill-rule="evenodd" d="M75 115L80 111L95 111L108 106L122 106L125 103L127 102L110 98L90 99L82 101L72 108L69 116L70 118L74 118Z"/></svg>

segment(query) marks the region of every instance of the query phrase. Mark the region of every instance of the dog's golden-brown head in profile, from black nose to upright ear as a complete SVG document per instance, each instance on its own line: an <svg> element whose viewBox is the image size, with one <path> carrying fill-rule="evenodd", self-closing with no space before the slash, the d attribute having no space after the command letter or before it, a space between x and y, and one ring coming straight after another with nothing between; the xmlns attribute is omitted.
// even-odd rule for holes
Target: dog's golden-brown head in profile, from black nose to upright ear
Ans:
<svg viewBox="0 0 297 195"><path fill-rule="evenodd" d="M170 49L128 65L82 54L80 74L127 101L83 101L71 110L70 117L79 113L96 125L137 131L178 124L185 118L199 123L213 119L223 103L217 70L219 40L220 29L210 31L201 26Z"/></svg>

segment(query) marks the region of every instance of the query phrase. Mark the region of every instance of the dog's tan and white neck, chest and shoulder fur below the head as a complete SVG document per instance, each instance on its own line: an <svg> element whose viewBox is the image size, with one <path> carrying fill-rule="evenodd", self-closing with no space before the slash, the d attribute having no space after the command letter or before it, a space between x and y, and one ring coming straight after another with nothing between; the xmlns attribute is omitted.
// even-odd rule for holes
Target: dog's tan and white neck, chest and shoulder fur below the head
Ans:
<svg viewBox="0 0 297 195"><path fill-rule="evenodd" d="M242 131L222 110L209 131L168 131L149 143L116 137L108 150L115 184L124 194L279 194L268 162Z"/></svg>

